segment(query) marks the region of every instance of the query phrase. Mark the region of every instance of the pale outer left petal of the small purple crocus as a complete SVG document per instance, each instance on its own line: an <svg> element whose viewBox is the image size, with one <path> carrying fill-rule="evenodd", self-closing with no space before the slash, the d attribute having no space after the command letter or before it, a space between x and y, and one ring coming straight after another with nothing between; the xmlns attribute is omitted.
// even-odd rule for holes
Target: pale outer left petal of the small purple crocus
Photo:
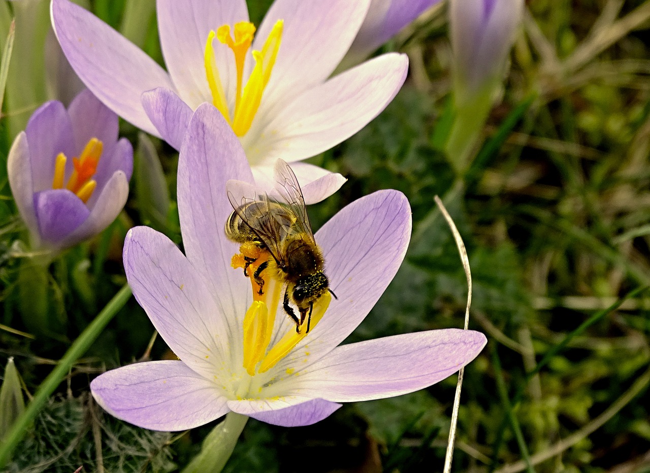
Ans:
<svg viewBox="0 0 650 473"><path fill-rule="evenodd" d="M27 135L25 132L20 132L16 136L14 144L9 150L6 173L20 217L25 222L32 236L32 243L34 246L38 246L40 243L40 234L38 232L38 220L36 219L36 212L34 210L31 155L29 153L29 144L27 143Z"/></svg>

